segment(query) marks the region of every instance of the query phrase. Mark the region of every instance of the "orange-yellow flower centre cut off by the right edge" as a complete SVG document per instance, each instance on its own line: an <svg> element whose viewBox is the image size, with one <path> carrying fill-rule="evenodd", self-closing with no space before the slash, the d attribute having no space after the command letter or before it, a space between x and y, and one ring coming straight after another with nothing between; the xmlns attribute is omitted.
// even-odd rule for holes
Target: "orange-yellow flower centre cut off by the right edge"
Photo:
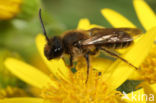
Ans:
<svg viewBox="0 0 156 103"><path fill-rule="evenodd" d="M153 45L149 55L141 65L139 71L143 80L156 83L156 45Z"/></svg>

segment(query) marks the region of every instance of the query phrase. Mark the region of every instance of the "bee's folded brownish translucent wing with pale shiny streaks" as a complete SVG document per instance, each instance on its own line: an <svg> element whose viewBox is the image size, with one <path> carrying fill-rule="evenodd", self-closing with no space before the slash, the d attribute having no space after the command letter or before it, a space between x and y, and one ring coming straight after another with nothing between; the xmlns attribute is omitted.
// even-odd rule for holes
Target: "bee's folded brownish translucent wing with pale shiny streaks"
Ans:
<svg viewBox="0 0 156 103"><path fill-rule="evenodd" d="M119 43L133 41L134 36L141 34L136 28L93 28L89 30L91 36L81 41L81 45L102 45L106 43Z"/></svg>

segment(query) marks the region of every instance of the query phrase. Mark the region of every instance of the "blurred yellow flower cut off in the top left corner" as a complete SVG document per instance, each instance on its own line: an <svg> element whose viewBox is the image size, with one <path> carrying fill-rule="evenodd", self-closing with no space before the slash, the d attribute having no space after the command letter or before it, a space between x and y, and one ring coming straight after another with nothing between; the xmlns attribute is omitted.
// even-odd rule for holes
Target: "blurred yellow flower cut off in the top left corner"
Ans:
<svg viewBox="0 0 156 103"><path fill-rule="evenodd" d="M11 19L20 11L21 0L0 0L0 20Z"/></svg>

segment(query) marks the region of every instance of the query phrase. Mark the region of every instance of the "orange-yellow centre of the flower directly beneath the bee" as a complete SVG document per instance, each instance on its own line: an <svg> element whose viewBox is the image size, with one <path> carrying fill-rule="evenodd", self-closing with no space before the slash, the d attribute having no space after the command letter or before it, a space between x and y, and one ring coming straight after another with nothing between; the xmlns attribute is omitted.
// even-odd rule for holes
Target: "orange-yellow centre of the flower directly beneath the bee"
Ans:
<svg viewBox="0 0 156 103"><path fill-rule="evenodd" d="M124 103L120 101L120 92L110 91L96 70L90 69L87 83L86 77L86 69L82 68L76 73L71 72L69 81L53 78L59 89L46 88L42 97L47 103Z"/></svg>

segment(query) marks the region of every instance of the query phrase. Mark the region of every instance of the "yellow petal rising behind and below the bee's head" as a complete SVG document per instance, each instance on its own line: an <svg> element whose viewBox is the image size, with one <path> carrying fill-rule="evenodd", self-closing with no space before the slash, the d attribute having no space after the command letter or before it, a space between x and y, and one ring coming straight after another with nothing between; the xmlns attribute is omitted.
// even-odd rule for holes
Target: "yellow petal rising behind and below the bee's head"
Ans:
<svg viewBox="0 0 156 103"><path fill-rule="evenodd" d="M41 57L43 58L44 62L48 66L48 68L51 70L51 72L56 77L62 77L65 80L69 78L69 68L66 67L64 61L60 59L54 59L54 60L47 60L47 58L44 56L44 46L46 44L45 37L42 34L39 34L36 37L36 45L39 50L39 53L41 54Z"/></svg>

